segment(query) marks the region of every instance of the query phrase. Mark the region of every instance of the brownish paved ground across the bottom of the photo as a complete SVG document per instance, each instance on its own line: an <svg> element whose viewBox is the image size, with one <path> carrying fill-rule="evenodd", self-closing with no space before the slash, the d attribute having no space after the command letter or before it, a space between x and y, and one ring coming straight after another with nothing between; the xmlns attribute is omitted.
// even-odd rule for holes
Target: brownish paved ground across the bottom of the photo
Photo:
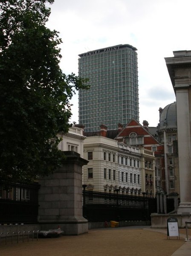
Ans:
<svg viewBox="0 0 191 256"><path fill-rule="evenodd" d="M189 235L191 230L189 229ZM191 256L191 241L167 239L167 230L130 226L89 230L79 236L0 244L0 256Z"/></svg>

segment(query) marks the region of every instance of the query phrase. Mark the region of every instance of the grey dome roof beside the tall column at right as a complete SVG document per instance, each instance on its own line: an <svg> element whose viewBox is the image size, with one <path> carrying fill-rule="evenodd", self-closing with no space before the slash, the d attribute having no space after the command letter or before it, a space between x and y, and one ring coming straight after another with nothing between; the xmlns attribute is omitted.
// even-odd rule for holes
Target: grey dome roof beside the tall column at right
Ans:
<svg viewBox="0 0 191 256"><path fill-rule="evenodd" d="M163 129L177 128L177 102L160 109L159 131Z"/></svg>

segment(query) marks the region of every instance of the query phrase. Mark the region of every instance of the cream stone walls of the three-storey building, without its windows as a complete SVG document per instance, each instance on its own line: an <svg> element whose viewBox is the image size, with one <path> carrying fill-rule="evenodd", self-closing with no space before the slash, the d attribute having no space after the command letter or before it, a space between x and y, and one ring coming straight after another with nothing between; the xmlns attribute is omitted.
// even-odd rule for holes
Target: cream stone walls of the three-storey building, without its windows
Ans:
<svg viewBox="0 0 191 256"><path fill-rule="evenodd" d="M88 159L88 151L93 152L93 160ZM115 162L113 162L113 155L115 156ZM127 188L129 188L129 193L130 189L133 189L133 194L136 189L137 193L138 190L141 189L142 180L140 158L141 154L139 153L139 148L127 146L106 137L87 137L84 140L84 159L89 160L89 163L83 168L83 183L88 185L88 188L93 188L93 190L97 191L113 192L115 188L121 188L121 192L128 193ZM132 166L130 166L130 159L132 159ZM137 166L138 162L139 167ZM91 179L88 179L88 168L93 168L93 178ZM104 177L104 169L106 169L106 177ZM115 180L113 179L113 170L115 170ZM123 181L122 172L124 173ZM127 182L126 173L128 173ZM133 175L132 182L130 182L130 173ZM136 183L134 183L134 174L136 175Z"/></svg>

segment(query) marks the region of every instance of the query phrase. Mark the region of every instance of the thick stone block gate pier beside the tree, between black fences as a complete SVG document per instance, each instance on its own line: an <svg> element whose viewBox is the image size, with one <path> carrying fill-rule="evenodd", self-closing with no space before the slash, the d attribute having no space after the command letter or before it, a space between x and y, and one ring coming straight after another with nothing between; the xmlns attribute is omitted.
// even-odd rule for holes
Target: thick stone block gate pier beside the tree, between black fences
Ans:
<svg viewBox="0 0 191 256"><path fill-rule="evenodd" d="M82 215L82 166L88 163L74 151L64 151L63 166L39 180L38 221L41 230L60 227L66 235L88 232Z"/></svg>

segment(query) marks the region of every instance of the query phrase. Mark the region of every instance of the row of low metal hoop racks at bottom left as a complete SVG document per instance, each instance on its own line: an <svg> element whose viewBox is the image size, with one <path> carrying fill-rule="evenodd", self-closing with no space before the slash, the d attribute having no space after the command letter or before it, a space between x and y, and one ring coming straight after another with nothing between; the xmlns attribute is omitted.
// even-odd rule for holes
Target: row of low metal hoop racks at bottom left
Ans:
<svg viewBox="0 0 191 256"><path fill-rule="evenodd" d="M5 244L7 244L7 241L8 241L8 239L11 237L11 243L13 244L13 237L16 237L17 236L17 244L19 243L19 240L20 240L20 236L22 236L23 237L23 242L25 241L25 237L27 236L27 241L29 242L29 236L30 236L30 234L31 234L31 236L32 236L32 241L34 241L34 236L35 236L35 234L37 235L36 236L36 239L37 239L37 241L38 241L38 233L39 233L39 230L33 230L33 231L28 231L28 232L26 232L26 231L23 231L23 234L21 234L21 232L20 231L18 231L17 233L16 232L12 232L12 234L10 234L9 232L7 232L6 233L6 236L5 236ZM2 240L3 240L3 233L0 233L0 244L2 244Z"/></svg>

